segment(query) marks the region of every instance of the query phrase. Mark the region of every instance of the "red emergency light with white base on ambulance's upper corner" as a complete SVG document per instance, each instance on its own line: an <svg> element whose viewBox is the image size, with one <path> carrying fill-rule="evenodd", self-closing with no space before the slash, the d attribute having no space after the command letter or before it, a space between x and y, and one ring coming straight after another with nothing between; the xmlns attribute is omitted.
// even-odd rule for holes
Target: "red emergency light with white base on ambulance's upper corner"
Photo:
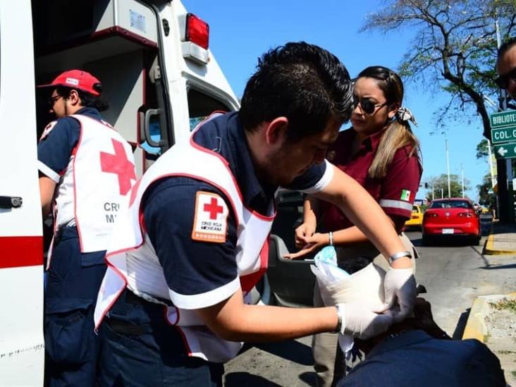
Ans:
<svg viewBox="0 0 516 387"><path fill-rule="evenodd" d="M193 13L180 18L181 49L186 59L208 63L209 25Z"/></svg>

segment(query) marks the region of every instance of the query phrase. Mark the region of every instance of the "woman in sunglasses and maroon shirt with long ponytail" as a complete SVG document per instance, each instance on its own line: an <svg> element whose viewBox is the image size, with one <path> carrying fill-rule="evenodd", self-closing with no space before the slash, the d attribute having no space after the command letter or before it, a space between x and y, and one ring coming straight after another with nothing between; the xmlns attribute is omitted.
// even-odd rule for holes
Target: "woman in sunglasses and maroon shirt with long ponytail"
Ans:
<svg viewBox="0 0 516 387"><path fill-rule="evenodd" d="M398 74L381 66L362 70L355 81L353 126L339 133L328 149L327 159L355 178L379 202L414 257L413 245L401 231L410 219L422 164L419 141L408 121L416 122L412 113L402 107L402 101L403 83ZM340 209L313 197L305 200L304 222L295 231L295 243L301 250L286 257L296 259L335 245L338 265L350 274L382 257ZM318 305L322 301L316 285L314 306ZM318 386L331 386L344 374L342 362L336 362L337 347L336 334L314 336Z"/></svg>

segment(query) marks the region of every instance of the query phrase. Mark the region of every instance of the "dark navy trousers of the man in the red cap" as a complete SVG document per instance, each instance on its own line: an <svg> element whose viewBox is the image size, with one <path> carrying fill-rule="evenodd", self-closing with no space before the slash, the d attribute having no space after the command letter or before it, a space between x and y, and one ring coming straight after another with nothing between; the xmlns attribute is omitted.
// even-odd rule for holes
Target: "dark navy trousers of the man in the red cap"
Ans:
<svg viewBox="0 0 516 387"><path fill-rule="evenodd" d="M82 254L75 227L54 238L44 292L46 386L94 386L100 340L93 311L106 271L105 251Z"/></svg>

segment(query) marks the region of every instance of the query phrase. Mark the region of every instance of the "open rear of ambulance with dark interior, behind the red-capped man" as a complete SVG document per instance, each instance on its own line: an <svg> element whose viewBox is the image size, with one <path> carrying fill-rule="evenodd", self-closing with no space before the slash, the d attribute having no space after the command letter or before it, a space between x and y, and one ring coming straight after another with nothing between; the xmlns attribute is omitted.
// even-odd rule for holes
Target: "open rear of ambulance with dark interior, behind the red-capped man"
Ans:
<svg viewBox="0 0 516 387"><path fill-rule="evenodd" d="M97 76L110 104L102 116L133 145L139 176L209 113L238 109L207 44L195 42L199 24L178 0L33 0L32 8L37 83L71 68ZM39 130L51 119L45 109Z"/></svg>

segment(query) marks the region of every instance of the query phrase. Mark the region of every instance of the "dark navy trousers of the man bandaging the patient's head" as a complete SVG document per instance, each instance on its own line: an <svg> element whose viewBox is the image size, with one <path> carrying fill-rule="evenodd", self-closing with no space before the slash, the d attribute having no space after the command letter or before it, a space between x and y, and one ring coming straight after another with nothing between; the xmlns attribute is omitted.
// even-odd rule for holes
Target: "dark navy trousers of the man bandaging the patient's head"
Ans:
<svg viewBox="0 0 516 387"><path fill-rule="evenodd" d="M223 364L189 357L165 306L125 290L102 322L100 386L222 386Z"/></svg>

